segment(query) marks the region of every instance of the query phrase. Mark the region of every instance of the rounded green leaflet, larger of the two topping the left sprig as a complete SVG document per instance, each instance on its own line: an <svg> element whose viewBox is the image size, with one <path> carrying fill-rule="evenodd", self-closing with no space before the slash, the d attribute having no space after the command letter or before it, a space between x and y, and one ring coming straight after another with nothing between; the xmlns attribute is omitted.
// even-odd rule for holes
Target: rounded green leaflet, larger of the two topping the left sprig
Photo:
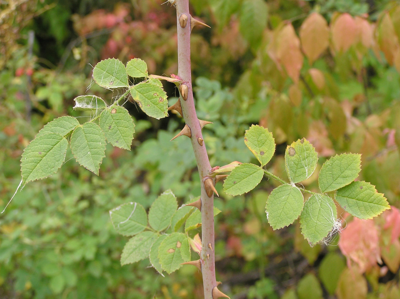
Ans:
<svg viewBox="0 0 400 299"><path fill-rule="evenodd" d="M100 61L93 69L93 79L105 88L128 87L124 64L115 58Z"/></svg>

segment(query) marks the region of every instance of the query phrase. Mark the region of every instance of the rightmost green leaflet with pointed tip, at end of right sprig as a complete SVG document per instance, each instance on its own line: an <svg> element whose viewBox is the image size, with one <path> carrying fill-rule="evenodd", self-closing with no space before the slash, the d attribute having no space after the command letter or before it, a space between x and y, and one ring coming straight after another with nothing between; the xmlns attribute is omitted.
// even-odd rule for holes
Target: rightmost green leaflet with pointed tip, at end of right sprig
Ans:
<svg viewBox="0 0 400 299"><path fill-rule="evenodd" d="M338 189L335 199L345 211L360 219L371 219L390 209L383 194L365 181L355 181Z"/></svg>

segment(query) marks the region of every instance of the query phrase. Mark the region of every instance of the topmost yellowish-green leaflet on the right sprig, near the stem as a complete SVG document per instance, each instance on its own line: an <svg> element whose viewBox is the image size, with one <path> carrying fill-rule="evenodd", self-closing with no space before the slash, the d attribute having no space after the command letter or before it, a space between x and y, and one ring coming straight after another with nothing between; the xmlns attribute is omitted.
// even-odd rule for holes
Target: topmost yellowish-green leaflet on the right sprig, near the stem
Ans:
<svg viewBox="0 0 400 299"><path fill-rule="evenodd" d="M275 152L275 140L272 133L261 126L252 125L244 134L244 143L256 156L261 166L266 165Z"/></svg>

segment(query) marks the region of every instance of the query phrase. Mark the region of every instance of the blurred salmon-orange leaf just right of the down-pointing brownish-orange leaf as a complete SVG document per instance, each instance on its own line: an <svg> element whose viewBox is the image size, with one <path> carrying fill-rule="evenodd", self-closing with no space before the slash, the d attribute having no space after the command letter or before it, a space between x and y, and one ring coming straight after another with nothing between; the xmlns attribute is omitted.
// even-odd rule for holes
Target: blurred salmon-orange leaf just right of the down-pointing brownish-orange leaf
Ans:
<svg viewBox="0 0 400 299"><path fill-rule="evenodd" d="M350 14L341 14L331 24L332 44L336 52L346 52L357 37L357 24Z"/></svg>

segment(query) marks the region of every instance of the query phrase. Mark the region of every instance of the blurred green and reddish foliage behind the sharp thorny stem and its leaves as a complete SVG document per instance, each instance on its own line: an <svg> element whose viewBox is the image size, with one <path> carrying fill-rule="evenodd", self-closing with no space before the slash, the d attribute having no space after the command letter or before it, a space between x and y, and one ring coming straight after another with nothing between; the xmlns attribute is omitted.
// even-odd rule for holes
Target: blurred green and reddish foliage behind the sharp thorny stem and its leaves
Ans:
<svg viewBox="0 0 400 299"><path fill-rule="evenodd" d="M142 58L150 74L177 73L175 10L162 1L12 0L0 3L0 206L20 181L20 156L81 94L117 96L91 81L98 61ZM310 247L299 224L272 231L264 212L275 181L215 205L217 279L232 298L399 298L400 5L396 1L191 0L212 29L192 32L192 74L212 166L254 160L244 130L273 132L267 167L284 177L286 144L306 137L320 165L362 153L359 179L385 193L391 211L356 221L338 244ZM178 92L165 84L170 104ZM97 177L67 152L61 171L18 191L0 216L0 298L202 297L197 269L162 277L150 263L120 266L126 238L108 210L145 208L166 189L181 203L200 195L190 143L169 140L176 114L136 120L132 150L107 149ZM254 162L254 161L253 161ZM316 177L302 182L316 189ZM352 250L349 250L351 248Z"/></svg>

